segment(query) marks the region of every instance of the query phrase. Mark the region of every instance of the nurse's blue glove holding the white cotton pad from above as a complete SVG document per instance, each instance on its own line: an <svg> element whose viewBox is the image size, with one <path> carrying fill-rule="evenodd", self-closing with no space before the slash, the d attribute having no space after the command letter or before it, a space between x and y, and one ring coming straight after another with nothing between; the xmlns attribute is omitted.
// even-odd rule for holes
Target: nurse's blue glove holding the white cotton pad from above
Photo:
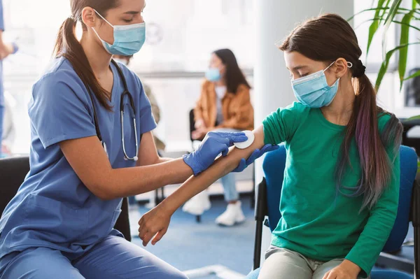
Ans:
<svg viewBox="0 0 420 279"><path fill-rule="evenodd" d="M211 131L206 135L200 147L195 152L184 155L183 160L193 169L194 175L197 176L209 168L219 154L222 153L222 156L228 155L229 148L233 143L241 143L247 140L248 137L243 132L223 133Z"/></svg>

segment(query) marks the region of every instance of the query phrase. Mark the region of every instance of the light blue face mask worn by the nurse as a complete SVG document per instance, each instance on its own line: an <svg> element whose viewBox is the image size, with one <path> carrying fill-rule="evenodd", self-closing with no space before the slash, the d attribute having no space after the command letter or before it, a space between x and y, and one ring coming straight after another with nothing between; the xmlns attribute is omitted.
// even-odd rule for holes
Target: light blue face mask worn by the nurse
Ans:
<svg viewBox="0 0 420 279"><path fill-rule="evenodd" d="M106 23L111 25L114 30L114 43L111 45L110 43L106 43L106 41L102 40L97 31L92 27L94 33L97 34L99 40L102 41L102 45L104 45L105 50L109 52L109 54L130 56L139 52L146 41L146 24L144 22L139 24L114 26L96 10L95 12L102 17Z"/></svg>

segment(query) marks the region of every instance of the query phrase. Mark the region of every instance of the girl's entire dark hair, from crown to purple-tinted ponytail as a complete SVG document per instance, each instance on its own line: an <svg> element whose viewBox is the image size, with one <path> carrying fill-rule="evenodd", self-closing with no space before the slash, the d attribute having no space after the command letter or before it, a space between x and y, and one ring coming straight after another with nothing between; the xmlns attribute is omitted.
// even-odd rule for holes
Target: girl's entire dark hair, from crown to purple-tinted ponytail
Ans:
<svg viewBox="0 0 420 279"><path fill-rule="evenodd" d="M377 106L377 92L365 75L360 61L362 50L349 22L339 15L325 14L297 26L280 46L285 52L299 52L309 59L325 62L325 66L339 58L351 62L356 99L353 113L343 134L343 142L335 171L337 194L345 196L363 195L363 208L372 208L392 179L392 164L398 156L402 138L402 124L395 115L386 113ZM391 115L382 131L378 120ZM360 157L361 175L358 186L348 187L342 180L353 171L349 150L356 141ZM389 157L387 152L392 152Z"/></svg>

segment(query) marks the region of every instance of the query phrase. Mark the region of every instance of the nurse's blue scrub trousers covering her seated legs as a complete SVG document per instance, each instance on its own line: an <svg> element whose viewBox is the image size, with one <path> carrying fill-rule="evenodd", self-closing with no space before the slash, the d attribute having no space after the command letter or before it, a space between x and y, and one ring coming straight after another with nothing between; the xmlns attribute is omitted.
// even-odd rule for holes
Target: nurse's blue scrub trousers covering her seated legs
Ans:
<svg viewBox="0 0 420 279"><path fill-rule="evenodd" d="M188 279L181 271L119 236L107 236L71 261L59 250L30 248L0 259L0 279Z"/></svg>

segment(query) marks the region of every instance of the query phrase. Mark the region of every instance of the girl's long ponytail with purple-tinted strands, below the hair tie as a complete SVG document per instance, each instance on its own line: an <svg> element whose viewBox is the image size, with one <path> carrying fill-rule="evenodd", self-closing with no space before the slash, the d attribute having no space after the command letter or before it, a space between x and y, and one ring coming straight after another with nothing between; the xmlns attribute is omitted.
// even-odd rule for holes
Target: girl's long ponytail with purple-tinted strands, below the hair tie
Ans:
<svg viewBox="0 0 420 279"><path fill-rule="evenodd" d="M357 73L360 63L356 64ZM363 64L362 64L363 66ZM363 66L364 67L364 66ZM358 76L358 75L356 75ZM359 196L363 194L363 208L372 208L379 200L382 192L391 181L392 162L388 157L388 148L393 148L393 158L398 155L402 138L402 124L395 115L391 115L386 127L379 131L378 117L385 112L377 106L376 96L372 83L364 73L354 79L356 99L353 103L353 113L346 128L342 143L341 158L337 164L337 189L348 189L341 185L345 169L349 166L349 150L353 137L356 139L360 157L361 178L356 190L346 196ZM354 188L353 188L354 189ZM343 193L342 193L343 194Z"/></svg>

